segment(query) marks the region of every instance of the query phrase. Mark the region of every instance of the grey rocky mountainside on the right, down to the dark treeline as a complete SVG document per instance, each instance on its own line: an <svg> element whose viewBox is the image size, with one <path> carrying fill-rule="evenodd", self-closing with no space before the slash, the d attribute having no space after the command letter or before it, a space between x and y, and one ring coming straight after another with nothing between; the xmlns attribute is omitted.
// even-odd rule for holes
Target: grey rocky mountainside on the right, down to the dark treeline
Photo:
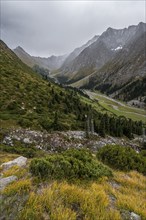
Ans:
<svg viewBox="0 0 146 220"><path fill-rule="evenodd" d="M97 90L106 91L114 85L115 91L120 89L121 83L145 73L145 31L142 22L124 29L108 28L72 62L62 66L56 77L69 84L79 81L80 88L98 86Z"/></svg>

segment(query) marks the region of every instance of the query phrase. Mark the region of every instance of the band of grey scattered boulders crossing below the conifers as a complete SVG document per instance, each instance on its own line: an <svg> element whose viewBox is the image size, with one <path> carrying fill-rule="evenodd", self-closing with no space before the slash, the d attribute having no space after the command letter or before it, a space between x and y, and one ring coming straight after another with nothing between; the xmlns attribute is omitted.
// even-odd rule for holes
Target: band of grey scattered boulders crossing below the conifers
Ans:
<svg viewBox="0 0 146 220"><path fill-rule="evenodd" d="M84 131L67 131L67 132L41 132L32 131L29 129L16 129L8 131L2 139L2 144L8 146L29 147L34 146L48 152L59 152L69 148L89 148L96 152L99 148L107 144L118 144L122 146L130 146L133 149L138 149L139 139L126 140L124 138L117 138L106 136L100 137L97 133L92 134L88 139Z"/></svg>

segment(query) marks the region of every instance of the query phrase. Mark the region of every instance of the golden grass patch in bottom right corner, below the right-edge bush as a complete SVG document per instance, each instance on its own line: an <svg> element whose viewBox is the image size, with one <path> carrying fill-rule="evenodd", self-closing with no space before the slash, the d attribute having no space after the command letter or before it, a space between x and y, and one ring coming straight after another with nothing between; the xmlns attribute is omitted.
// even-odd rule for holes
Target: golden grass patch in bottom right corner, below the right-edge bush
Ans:
<svg viewBox="0 0 146 220"><path fill-rule="evenodd" d="M136 171L129 173L116 172L115 181L120 187L113 189L107 187L108 191L116 198L116 207L120 210L135 212L146 219L146 177Z"/></svg>

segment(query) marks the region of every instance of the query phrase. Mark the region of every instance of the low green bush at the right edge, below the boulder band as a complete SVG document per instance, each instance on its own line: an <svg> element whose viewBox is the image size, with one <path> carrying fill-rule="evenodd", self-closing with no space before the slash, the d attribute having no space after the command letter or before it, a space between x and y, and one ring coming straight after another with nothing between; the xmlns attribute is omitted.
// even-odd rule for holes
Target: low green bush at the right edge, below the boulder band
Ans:
<svg viewBox="0 0 146 220"><path fill-rule="evenodd" d="M130 147L106 145L97 152L97 158L118 170L137 170L146 174L145 158Z"/></svg>

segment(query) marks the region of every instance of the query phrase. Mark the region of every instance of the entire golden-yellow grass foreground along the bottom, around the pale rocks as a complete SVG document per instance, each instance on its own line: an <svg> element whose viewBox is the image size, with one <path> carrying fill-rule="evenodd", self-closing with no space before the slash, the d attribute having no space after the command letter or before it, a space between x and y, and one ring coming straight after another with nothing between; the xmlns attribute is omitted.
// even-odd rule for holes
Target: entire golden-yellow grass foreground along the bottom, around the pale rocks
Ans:
<svg viewBox="0 0 146 220"><path fill-rule="evenodd" d="M1 153L1 163L17 155ZM146 177L136 171L113 171L97 181L40 181L27 167L3 172L18 180L2 191L1 213L6 219L23 220L120 220L128 212L146 219Z"/></svg>

